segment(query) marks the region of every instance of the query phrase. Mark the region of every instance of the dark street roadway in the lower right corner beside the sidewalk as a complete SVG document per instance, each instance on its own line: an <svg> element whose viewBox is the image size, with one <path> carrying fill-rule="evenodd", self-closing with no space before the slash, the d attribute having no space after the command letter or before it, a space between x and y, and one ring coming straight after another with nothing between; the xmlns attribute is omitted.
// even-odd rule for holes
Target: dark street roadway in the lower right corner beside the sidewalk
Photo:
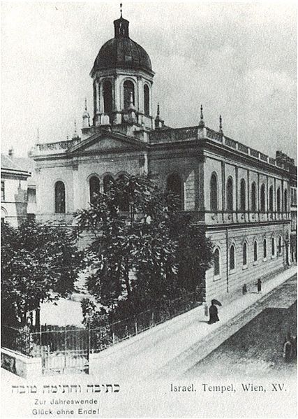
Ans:
<svg viewBox="0 0 298 419"><path fill-rule="evenodd" d="M295 376L297 362L285 363L283 342L289 330L297 336L296 318L297 276L293 276L219 328L216 332L221 340L231 329L236 332L181 377L210 376L210 372L218 378ZM215 345L216 340L211 336L204 347Z"/></svg>

